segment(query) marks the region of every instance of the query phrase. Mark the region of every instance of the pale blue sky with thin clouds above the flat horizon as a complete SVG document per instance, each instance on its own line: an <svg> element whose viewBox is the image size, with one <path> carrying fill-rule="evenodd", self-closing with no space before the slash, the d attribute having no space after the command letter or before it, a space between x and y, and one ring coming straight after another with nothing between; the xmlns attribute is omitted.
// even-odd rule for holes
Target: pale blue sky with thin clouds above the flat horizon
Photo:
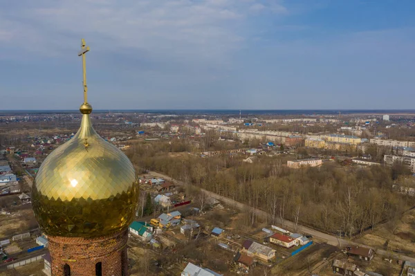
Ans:
<svg viewBox="0 0 415 276"><path fill-rule="evenodd" d="M415 109L412 0L0 0L0 109Z"/></svg>

